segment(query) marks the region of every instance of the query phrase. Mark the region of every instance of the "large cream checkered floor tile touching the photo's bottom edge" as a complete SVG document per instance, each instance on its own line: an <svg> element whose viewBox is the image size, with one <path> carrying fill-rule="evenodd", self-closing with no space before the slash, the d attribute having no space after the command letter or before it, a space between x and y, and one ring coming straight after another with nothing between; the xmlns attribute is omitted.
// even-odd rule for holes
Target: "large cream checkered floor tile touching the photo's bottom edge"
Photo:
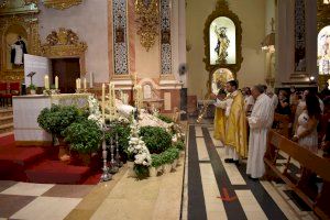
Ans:
<svg viewBox="0 0 330 220"><path fill-rule="evenodd" d="M64 219L81 199L38 197L11 218L26 220L62 220Z"/></svg>

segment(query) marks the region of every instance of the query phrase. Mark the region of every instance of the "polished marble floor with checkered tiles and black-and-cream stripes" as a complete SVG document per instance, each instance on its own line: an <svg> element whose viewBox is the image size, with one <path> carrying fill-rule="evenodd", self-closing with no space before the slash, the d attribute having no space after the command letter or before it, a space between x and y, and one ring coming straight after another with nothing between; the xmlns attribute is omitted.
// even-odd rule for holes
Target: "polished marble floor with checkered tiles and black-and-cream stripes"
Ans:
<svg viewBox="0 0 330 220"><path fill-rule="evenodd" d="M124 166L96 186L0 180L0 220L317 219L286 185L249 179L244 162L226 164L212 134L209 123L191 123L179 166L154 178L136 180ZM298 170L292 161L292 174Z"/></svg>

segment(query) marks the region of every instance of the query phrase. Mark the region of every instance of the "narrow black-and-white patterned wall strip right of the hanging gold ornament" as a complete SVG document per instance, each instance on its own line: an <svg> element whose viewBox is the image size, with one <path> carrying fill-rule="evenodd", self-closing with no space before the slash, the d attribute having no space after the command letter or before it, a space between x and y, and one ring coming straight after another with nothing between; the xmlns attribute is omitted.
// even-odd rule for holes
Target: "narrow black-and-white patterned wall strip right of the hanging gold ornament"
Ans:
<svg viewBox="0 0 330 220"><path fill-rule="evenodd" d="M170 0L161 0L161 57L162 74L172 73Z"/></svg>

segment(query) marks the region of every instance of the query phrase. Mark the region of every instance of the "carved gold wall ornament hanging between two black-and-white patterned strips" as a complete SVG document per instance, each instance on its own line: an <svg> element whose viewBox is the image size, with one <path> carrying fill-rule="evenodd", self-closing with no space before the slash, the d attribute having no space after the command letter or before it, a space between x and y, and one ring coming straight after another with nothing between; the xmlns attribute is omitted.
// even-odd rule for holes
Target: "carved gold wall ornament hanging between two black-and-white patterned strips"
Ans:
<svg viewBox="0 0 330 220"><path fill-rule="evenodd" d="M148 51L158 35L160 9L158 0L135 0L138 34L140 43Z"/></svg>

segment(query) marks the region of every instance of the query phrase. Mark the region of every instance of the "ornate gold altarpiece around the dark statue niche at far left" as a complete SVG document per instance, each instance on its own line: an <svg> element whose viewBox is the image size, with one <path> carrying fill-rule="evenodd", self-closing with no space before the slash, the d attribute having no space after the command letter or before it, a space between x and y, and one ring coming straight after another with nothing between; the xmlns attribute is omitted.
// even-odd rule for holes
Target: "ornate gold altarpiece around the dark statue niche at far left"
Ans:
<svg viewBox="0 0 330 220"><path fill-rule="evenodd" d="M2 0L0 4L0 79L6 81L21 81L22 68L9 68L7 65L6 41L8 31L13 26L23 29L26 33L29 54L40 54L40 36L37 21L37 0Z"/></svg>

